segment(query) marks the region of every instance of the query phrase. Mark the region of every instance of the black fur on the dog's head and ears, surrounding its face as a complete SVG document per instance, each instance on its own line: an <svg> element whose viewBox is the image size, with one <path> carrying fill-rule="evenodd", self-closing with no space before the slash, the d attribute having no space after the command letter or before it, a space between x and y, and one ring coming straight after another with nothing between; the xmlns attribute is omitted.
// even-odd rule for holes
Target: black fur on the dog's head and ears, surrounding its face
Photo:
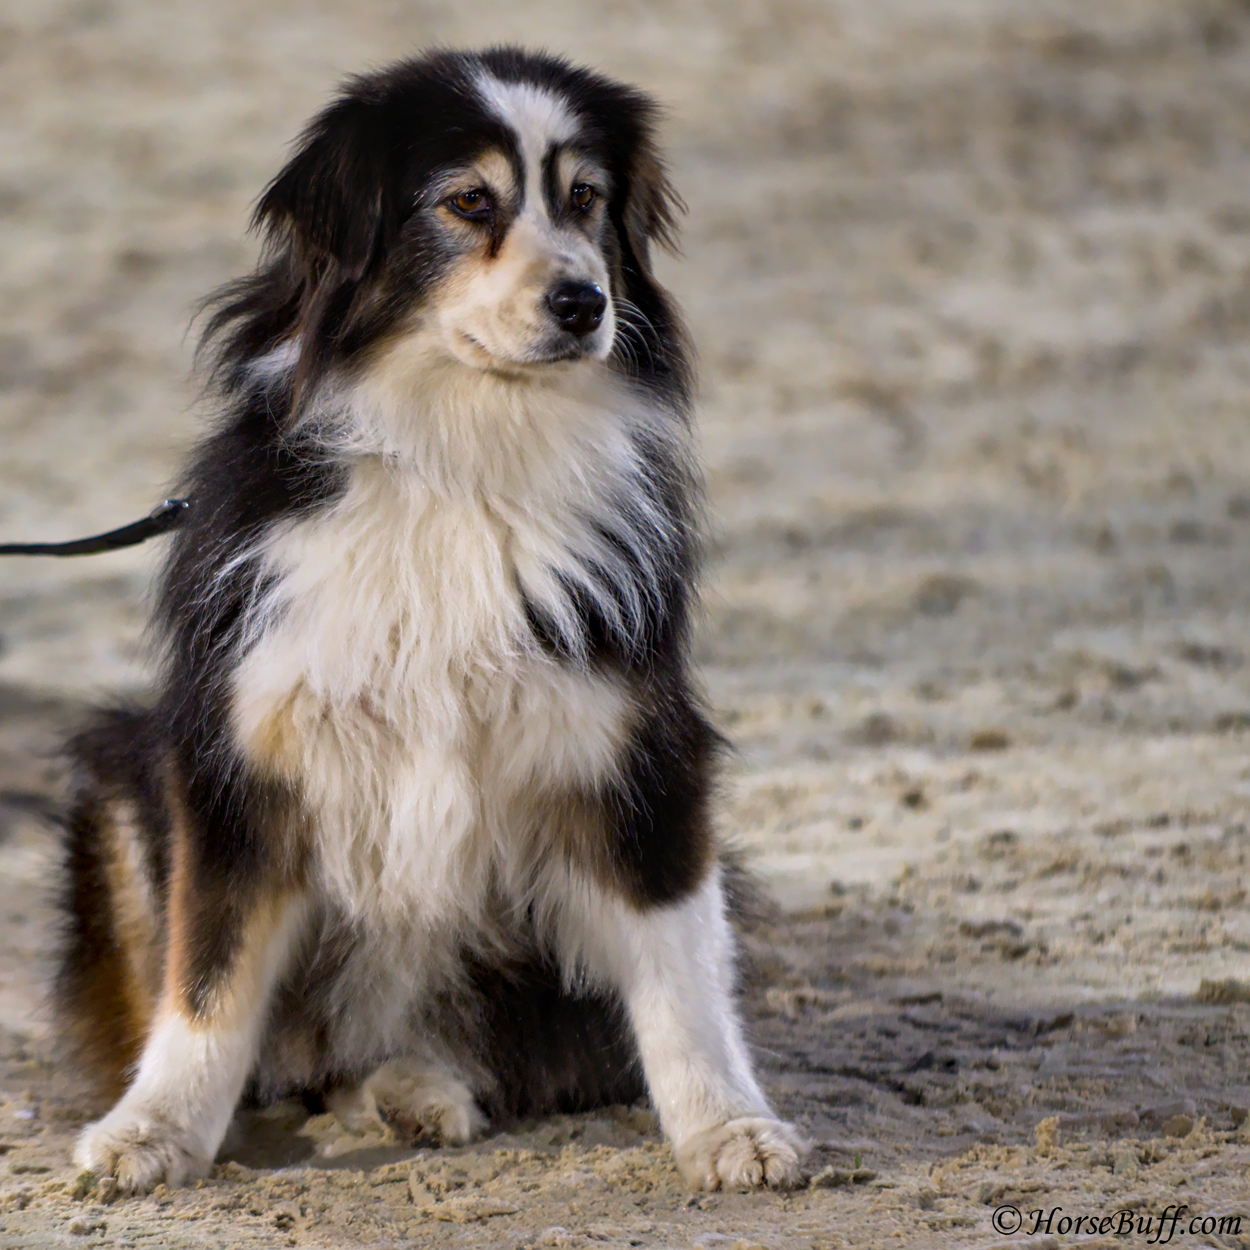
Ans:
<svg viewBox="0 0 1250 1250"><path fill-rule="evenodd" d="M411 211L422 186L442 165L514 144L472 90L480 68L550 88L584 120L585 142L605 158L615 189L609 218L620 289L612 294L638 310L619 336L621 366L680 405L689 401L681 324L651 278L651 245L674 245L680 206L651 146L656 106L632 88L516 48L434 52L360 75L312 120L256 206L265 261L209 302L205 345L220 379L245 389L248 365L302 326L302 388L420 299L442 260Z"/></svg>

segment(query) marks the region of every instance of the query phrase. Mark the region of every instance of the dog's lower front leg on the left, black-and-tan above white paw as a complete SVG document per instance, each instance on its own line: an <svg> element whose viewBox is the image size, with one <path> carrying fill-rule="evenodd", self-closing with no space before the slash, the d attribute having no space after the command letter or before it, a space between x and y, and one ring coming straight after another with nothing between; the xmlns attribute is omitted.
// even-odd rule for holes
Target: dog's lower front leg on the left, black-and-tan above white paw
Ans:
<svg viewBox="0 0 1250 1250"><path fill-rule="evenodd" d="M175 861L165 989L132 1084L75 1161L135 1192L208 1172L255 1062L274 985L304 930L294 889L222 896Z"/></svg>

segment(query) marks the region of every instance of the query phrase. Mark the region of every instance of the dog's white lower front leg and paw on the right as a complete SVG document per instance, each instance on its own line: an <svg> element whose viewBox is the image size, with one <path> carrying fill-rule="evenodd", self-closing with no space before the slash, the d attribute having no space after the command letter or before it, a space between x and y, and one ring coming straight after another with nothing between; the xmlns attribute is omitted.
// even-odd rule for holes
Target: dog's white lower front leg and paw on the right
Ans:
<svg viewBox="0 0 1250 1250"><path fill-rule="evenodd" d="M676 904L635 910L600 901L586 918L598 940L582 958L608 972L624 1000L682 1175L701 1189L795 1182L808 1142L776 1118L751 1071L719 871Z"/></svg>

